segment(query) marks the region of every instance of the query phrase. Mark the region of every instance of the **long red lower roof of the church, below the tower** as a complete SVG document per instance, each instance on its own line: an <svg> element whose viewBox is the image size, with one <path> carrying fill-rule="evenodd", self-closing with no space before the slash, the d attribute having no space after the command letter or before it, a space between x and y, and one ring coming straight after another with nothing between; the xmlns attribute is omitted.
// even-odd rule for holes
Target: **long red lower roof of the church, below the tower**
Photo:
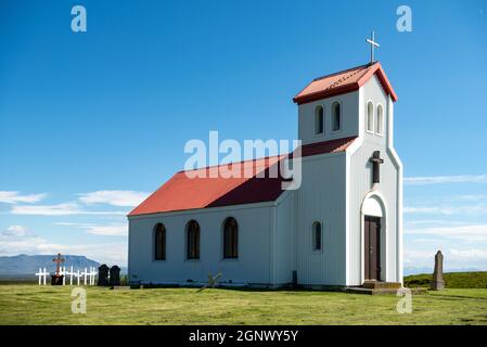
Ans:
<svg viewBox="0 0 487 347"><path fill-rule="evenodd" d="M355 139L345 138L304 145L302 155L343 152ZM269 171L279 169L279 162L284 157L286 156L281 155L177 172L129 216L275 201L283 193L283 179L280 175L275 178L269 177L272 176ZM253 175L243 175L244 170L251 168ZM232 171L241 174L240 178L229 177ZM264 177L257 177L259 172L264 174ZM201 175L205 175L204 178L195 177Z"/></svg>

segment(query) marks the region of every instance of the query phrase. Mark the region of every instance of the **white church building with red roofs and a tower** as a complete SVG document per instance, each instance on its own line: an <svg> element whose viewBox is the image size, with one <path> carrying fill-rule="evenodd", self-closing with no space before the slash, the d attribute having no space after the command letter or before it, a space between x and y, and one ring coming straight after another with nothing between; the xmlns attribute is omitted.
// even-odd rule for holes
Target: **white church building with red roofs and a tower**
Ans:
<svg viewBox="0 0 487 347"><path fill-rule="evenodd" d="M278 287L402 283L397 95L379 62L312 80L293 101L302 183L177 172L128 216L130 281ZM214 170L207 167L200 170Z"/></svg>

